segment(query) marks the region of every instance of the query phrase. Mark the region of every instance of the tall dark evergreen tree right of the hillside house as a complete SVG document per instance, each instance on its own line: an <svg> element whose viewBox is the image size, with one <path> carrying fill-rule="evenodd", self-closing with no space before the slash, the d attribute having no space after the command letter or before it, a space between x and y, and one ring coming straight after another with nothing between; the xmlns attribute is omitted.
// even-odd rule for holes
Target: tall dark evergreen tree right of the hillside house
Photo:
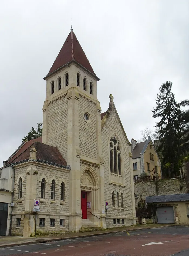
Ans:
<svg viewBox="0 0 189 256"><path fill-rule="evenodd" d="M179 173L180 159L180 105L171 92L172 82L163 83L157 94L156 108L151 110L158 128L159 150L163 155L162 172L173 177ZM169 166L169 168L167 168Z"/></svg>

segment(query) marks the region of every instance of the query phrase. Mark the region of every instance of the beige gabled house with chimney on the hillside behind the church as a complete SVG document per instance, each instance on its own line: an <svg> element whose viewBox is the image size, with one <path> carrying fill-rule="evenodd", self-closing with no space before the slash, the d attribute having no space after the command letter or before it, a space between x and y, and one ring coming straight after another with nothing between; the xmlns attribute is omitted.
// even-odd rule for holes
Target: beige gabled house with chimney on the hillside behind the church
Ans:
<svg viewBox="0 0 189 256"><path fill-rule="evenodd" d="M147 141L137 143L132 138L132 155L133 155L133 176L139 177L142 173L152 176L153 173L161 176L161 162L153 145L151 137Z"/></svg>

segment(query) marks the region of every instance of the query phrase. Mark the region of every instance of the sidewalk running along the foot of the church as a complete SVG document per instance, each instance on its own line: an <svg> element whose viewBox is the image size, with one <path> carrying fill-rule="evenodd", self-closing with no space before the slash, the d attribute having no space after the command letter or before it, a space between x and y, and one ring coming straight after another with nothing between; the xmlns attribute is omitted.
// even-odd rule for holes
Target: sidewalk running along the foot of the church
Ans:
<svg viewBox="0 0 189 256"><path fill-rule="evenodd" d="M176 224L172 224L176 225ZM76 232L76 233L65 233L65 234L50 234L36 237L18 237L18 236L3 236L0 237L0 248L3 247L13 247L18 245L27 245L27 244L38 244L59 240L66 240L72 238L82 238L82 237L91 237L97 235L118 233L123 231L135 231L141 229L148 228L158 228L162 226L170 226L170 224L147 224L147 225L136 225L136 226L128 226L122 228L110 228L107 230L100 231L91 231L91 232Z"/></svg>

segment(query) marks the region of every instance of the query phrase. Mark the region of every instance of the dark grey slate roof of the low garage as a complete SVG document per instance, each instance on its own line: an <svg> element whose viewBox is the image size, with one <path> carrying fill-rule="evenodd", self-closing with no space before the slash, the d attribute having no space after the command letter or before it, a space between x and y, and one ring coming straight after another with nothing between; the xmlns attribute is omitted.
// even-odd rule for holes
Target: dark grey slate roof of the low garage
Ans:
<svg viewBox="0 0 189 256"><path fill-rule="evenodd" d="M146 203L189 201L189 193L162 195L162 196L146 196Z"/></svg>

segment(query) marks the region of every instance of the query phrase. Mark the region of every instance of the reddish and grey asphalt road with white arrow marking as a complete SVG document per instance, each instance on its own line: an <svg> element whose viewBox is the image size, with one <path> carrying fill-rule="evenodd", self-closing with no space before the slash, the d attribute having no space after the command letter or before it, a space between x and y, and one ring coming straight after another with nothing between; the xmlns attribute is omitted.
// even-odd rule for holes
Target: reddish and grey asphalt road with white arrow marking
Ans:
<svg viewBox="0 0 189 256"><path fill-rule="evenodd" d="M0 249L0 255L189 256L189 226L171 226Z"/></svg>

